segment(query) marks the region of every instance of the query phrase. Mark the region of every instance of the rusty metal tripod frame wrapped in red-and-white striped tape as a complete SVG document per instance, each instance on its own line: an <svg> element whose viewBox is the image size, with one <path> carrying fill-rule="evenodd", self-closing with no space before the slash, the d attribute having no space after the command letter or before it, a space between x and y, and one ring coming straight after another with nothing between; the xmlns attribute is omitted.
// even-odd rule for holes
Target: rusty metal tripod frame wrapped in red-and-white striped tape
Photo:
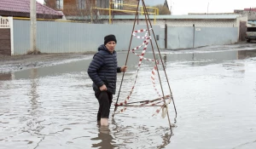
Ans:
<svg viewBox="0 0 256 149"><path fill-rule="evenodd" d="M170 87L170 83L169 83L169 80L168 80L168 77L167 77L167 74L166 74L166 68L164 66L164 63L163 63L163 60L162 60L162 57L161 57L161 54L160 54L160 49L159 49L159 46L158 46L158 43L156 42L156 37L155 37L155 34L154 34L154 30L152 28L152 24L151 24L151 21L150 21L150 18L148 16L148 10L146 8L146 5L144 3L144 0L138 0L138 3L137 3L137 13L136 13L136 16L135 16L135 19L134 19L134 23L133 23L133 28L132 28L132 33L131 33L131 41L132 41L132 37L134 36L135 34L135 24L136 24L136 21L138 21L138 8L139 8L139 4L140 2L142 1L143 3L143 11L144 11L144 15L145 15L145 21L146 21L146 25L147 25L147 29L146 30L140 30L141 32L143 31L146 31L146 35L148 34L148 41L150 40L150 44L151 44L151 48L152 48L152 52L154 54L154 60L151 60L151 61L154 61L154 70L155 72L157 72L158 74L158 79L159 79L159 82L160 82L160 88L161 88L161 96L160 98L157 98L157 99L154 99L154 100L143 100L143 101L137 101L137 102L131 102L131 103L128 103L127 101L129 100L130 98L130 95L128 95L127 99L125 100L125 102L123 103L120 103L118 104L118 101L119 101L119 95L120 95L120 90L121 90L121 87L122 87L122 83L123 83L123 80L124 80L124 76L125 76L125 72L123 73L123 76L122 76L122 80L121 80L121 83L120 83L120 88L119 88L119 94L118 94L118 97L117 97L117 100L116 100L116 104L115 104L115 108L114 108L114 112L113 112L113 117L116 113L119 113L119 112L116 112L117 109L118 109L118 106L123 106L124 109L122 109L120 112L124 112L126 107L127 106L160 106L160 108L164 111L164 109L166 110L166 115L168 117L168 122L169 122L169 125L170 125L170 129L171 129L171 133L172 133L172 123L171 123L171 120L170 120L170 116L169 116L169 112L168 112L168 107L167 105L170 104L171 102L173 103L173 106L174 106L174 110L175 110L175 118L177 117L177 110L176 110L176 106L175 106L175 103L174 103L174 100L173 100L173 97L172 97L172 90L171 90L171 87ZM140 31L137 31L137 32L140 32ZM153 37L154 37L154 41L156 43L156 47L157 47L157 51L158 51L158 54L160 56L160 60L156 60L156 56L155 56L155 53L154 53L154 46L153 46L153 43L152 43L152 38L151 38L151 33L150 31L152 31L152 34L153 34ZM146 36L145 36L146 37ZM128 53L127 53L127 56L126 56L126 60L125 60L125 66L127 65L127 61L128 61L128 58L129 58L129 54L131 52L131 41L130 41L130 45L129 45L129 49L128 49ZM144 44L147 46L147 42L144 42ZM146 48L147 49L147 48ZM132 52L134 53L134 49L132 49ZM135 54L135 53L134 53ZM140 57L140 62L144 59L146 60L145 58L143 58L143 54L142 53L141 55L138 55ZM149 59L147 59L149 60ZM165 72L165 76L166 76L166 82L168 83L168 87L169 87L169 91L170 91L170 95L165 95L164 94L164 90L163 90L163 87L162 87L162 81L161 81L161 78L160 78L160 72L159 72L159 65L162 65L163 66L163 70ZM139 64L140 66L140 64ZM137 70L137 72L139 71L139 68ZM154 73L154 72L152 72ZM136 77L137 78L137 77ZM154 78L153 78L153 81L154 81ZM136 83L136 81L135 81ZM135 84L134 83L134 84ZM132 93L132 90L133 90L134 86L132 87L131 89L131 93ZM159 94L159 93L158 93ZM160 94L159 94L160 95ZM168 101L166 101L169 100ZM157 101L157 103L155 103ZM141 104L141 105L132 105L132 104ZM154 103L154 104L152 104ZM158 105L160 103L163 103L163 105ZM149 105L148 105L149 104ZM156 111L157 113L160 112L160 110L157 110Z"/></svg>

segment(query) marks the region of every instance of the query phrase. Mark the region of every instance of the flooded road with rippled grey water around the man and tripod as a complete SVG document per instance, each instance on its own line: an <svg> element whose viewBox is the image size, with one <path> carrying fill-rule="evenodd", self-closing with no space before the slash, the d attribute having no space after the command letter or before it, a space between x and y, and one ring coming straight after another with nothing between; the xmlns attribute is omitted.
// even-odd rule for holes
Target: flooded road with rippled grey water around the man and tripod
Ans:
<svg viewBox="0 0 256 149"><path fill-rule="evenodd" d="M108 129L97 125L98 101L86 72L91 56L0 74L0 148L256 148L256 50L202 48L161 55L177 107L174 123L169 106L176 126L171 139L167 118L152 117L156 107L128 107L110 119ZM125 58L119 52L119 66ZM130 54L119 101L131 90L137 62ZM157 97L153 67L148 61L141 66L131 101ZM166 81L163 87L168 92Z"/></svg>

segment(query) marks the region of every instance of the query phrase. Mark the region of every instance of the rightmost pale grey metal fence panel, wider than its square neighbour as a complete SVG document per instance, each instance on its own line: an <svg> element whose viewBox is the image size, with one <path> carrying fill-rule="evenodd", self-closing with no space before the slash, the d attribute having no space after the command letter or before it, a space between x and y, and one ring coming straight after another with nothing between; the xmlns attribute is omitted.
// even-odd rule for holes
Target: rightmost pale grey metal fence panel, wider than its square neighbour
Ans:
<svg viewBox="0 0 256 149"><path fill-rule="evenodd" d="M237 27L195 27L195 47L236 43Z"/></svg>

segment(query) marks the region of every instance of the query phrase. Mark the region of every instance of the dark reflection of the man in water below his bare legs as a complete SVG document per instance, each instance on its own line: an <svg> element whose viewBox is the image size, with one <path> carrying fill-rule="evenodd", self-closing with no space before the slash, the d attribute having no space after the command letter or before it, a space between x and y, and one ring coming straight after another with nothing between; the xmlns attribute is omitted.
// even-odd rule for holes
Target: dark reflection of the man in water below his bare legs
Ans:
<svg viewBox="0 0 256 149"><path fill-rule="evenodd" d="M90 140L99 140L99 143L92 144L91 147L99 147L100 149L113 149L117 147L114 145L113 136L111 135L111 131L108 127L99 127L99 133L96 138L91 138Z"/></svg>

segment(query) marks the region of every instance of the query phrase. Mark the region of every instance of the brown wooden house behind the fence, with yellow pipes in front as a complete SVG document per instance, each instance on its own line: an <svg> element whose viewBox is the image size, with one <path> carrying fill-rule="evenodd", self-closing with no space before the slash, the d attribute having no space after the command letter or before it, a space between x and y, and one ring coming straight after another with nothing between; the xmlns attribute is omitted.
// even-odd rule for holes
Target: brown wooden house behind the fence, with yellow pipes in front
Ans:
<svg viewBox="0 0 256 149"><path fill-rule="evenodd" d="M166 0L144 1L150 7L162 4L169 9ZM90 17L98 19L100 15L109 15L109 7L112 9L111 15L135 14L137 0L47 0L45 5L62 11L67 20L88 20Z"/></svg>

